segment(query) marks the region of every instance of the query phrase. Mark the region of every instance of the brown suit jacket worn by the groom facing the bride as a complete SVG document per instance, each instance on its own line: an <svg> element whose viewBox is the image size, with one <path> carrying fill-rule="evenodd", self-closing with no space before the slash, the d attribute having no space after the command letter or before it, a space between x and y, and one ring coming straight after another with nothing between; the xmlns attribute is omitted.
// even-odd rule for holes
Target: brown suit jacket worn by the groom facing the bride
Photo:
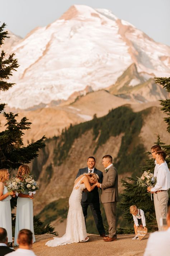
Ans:
<svg viewBox="0 0 170 256"><path fill-rule="evenodd" d="M101 202L110 203L118 201L118 172L112 165L109 170L104 173L101 184Z"/></svg>

